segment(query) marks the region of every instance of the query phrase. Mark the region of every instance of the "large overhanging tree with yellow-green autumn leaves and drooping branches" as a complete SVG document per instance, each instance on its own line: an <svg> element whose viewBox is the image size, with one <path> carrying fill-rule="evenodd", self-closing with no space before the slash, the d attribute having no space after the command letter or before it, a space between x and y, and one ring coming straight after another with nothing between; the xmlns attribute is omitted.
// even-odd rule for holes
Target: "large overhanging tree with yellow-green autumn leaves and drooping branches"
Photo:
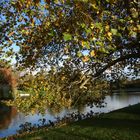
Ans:
<svg viewBox="0 0 140 140"><path fill-rule="evenodd" d="M16 57L21 70L43 69L24 78L21 88L32 90L32 96L26 104L19 99L17 106L26 111L46 102L59 106L99 102L104 94L95 90L106 88L104 78L126 76L129 69L138 75L138 4L137 0L1 0L0 63ZM43 75L46 69L50 71Z"/></svg>

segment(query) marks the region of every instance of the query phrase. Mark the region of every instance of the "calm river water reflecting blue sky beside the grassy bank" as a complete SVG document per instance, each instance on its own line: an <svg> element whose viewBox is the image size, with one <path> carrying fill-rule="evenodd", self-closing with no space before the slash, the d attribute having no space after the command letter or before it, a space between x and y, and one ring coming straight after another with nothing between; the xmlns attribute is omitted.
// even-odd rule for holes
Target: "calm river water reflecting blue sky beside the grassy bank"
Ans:
<svg viewBox="0 0 140 140"><path fill-rule="evenodd" d="M104 108L84 106L80 108L81 113L93 112L109 112L119 108L126 107L140 103L140 92L128 92L128 93L114 93L112 96L106 96ZM32 124L38 124L38 120L46 118L46 120L55 121L56 117L63 117L68 113L77 111L77 109L63 109L58 114L53 114L51 110L46 110L44 116L41 114L25 115L21 112L17 112L15 107L0 106L0 138L9 135L16 134L19 130L19 126L25 122L31 122Z"/></svg>

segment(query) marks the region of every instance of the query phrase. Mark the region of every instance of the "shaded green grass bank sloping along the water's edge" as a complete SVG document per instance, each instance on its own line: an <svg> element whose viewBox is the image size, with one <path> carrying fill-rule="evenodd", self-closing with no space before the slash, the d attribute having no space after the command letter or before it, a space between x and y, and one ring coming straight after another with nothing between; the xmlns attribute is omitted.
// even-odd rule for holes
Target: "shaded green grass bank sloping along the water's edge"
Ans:
<svg viewBox="0 0 140 140"><path fill-rule="evenodd" d="M140 103L100 117L39 130L18 140L140 140Z"/></svg>

